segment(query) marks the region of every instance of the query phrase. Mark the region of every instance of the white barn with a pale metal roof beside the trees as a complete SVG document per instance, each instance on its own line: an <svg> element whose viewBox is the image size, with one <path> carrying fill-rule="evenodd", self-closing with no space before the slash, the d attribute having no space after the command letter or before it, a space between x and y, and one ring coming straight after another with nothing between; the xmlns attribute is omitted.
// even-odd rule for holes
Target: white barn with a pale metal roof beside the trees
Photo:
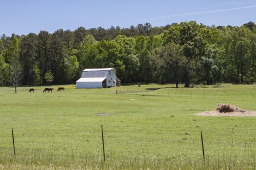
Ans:
<svg viewBox="0 0 256 170"><path fill-rule="evenodd" d="M85 69L76 81L76 88L106 88L117 86L117 75L114 68Z"/></svg>

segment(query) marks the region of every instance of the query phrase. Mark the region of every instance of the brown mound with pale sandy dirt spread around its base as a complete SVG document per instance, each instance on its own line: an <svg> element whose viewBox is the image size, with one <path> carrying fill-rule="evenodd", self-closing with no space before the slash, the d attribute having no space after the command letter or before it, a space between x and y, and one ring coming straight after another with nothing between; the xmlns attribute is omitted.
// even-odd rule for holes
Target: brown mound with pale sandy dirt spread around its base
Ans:
<svg viewBox="0 0 256 170"><path fill-rule="evenodd" d="M198 116L256 116L255 111L246 111L232 104L218 104L215 111L197 113Z"/></svg>

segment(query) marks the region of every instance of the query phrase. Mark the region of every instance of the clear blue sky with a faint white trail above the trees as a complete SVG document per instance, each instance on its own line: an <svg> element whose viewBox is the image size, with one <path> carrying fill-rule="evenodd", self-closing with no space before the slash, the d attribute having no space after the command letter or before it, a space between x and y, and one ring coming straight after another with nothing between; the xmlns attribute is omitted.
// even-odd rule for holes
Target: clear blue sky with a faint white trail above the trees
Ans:
<svg viewBox="0 0 256 170"><path fill-rule="evenodd" d="M196 20L205 25L256 23L256 0L0 0L0 35L59 28L129 28Z"/></svg>

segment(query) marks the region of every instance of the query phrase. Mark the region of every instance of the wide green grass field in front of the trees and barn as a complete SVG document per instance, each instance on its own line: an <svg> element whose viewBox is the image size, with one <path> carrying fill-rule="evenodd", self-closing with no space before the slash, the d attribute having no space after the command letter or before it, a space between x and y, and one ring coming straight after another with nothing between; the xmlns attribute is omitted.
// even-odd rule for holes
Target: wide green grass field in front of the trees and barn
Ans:
<svg viewBox="0 0 256 170"><path fill-rule="evenodd" d="M256 117L194 115L218 103L256 111L256 84L52 87L0 87L0 169L256 168Z"/></svg>

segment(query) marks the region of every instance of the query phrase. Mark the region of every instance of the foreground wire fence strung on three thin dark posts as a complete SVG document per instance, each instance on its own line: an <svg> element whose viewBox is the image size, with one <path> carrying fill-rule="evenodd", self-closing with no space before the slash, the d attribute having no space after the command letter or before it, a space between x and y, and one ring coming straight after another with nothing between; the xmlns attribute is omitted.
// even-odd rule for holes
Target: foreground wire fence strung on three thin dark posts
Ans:
<svg viewBox="0 0 256 170"><path fill-rule="evenodd" d="M153 131L99 130L0 130L2 156L14 158L102 157L123 158L195 158L221 155L227 158L254 159L255 134L161 133ZM159 136L156 136L160 135Z"/></svg>

